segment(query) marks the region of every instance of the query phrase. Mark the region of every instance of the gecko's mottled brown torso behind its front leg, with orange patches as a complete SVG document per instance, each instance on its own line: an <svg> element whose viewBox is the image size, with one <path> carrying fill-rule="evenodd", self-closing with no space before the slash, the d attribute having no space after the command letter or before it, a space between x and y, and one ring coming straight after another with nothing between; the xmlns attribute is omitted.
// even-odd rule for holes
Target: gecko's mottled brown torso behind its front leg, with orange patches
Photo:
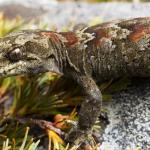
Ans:
<svg viewBox="0 0 150 150"><path fill-rule="evenodd" d="M103 23L85 32L95 36L87 44L85 60L96 80L150 76L150 18Z"/></svg>

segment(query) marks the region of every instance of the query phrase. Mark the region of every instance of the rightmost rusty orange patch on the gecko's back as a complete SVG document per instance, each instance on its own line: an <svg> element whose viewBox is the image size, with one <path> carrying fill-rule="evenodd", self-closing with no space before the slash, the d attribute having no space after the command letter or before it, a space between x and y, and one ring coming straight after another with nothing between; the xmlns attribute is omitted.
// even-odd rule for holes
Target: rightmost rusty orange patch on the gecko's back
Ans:
<svg viewBox="0 0 150 150"><path fill-rule="evenodd" d="M133 32L129 35L129 39L132 42L138 42L146 34L150 34L150 28L145 28L143 25L135 25Z"/></svg>

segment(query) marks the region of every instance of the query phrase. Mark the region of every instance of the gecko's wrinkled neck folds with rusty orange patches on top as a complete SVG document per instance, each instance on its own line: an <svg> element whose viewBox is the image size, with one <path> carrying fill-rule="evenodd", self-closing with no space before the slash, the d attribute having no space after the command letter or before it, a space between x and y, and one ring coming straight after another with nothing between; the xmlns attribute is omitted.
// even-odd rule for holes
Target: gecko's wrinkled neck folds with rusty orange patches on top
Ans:
<svg viewBox="0 0 150 150"><path fill-rule="evenodd" d="M58 68L63 72L69 60L68 54L78 44L78 37L73 32L44 31L41 34L49 38L49 49L53 51Z"/></svg>

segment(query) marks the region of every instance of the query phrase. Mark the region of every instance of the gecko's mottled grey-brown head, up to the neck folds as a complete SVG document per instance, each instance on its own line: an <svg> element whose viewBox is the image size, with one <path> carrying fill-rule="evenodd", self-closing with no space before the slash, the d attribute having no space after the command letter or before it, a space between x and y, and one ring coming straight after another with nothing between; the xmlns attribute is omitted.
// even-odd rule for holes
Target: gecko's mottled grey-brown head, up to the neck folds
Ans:
<svg viewBox="0 0 150 150"><path fill-rule="evenodd" d="M38 31L11 33L0 38L0 77L53 71L54 56Z"/></svg>

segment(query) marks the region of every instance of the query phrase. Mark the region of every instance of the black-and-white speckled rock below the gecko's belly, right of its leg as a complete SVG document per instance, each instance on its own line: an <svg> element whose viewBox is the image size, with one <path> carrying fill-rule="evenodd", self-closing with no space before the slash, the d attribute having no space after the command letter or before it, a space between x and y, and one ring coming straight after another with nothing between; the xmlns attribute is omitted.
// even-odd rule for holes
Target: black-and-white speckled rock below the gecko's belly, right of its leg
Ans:
<svg viewBox="0 0 150 150"><path fill-rule="evenodd" d="M116 93L105 109L109 125L100 150L150 149L150 80Z"/></svg>

